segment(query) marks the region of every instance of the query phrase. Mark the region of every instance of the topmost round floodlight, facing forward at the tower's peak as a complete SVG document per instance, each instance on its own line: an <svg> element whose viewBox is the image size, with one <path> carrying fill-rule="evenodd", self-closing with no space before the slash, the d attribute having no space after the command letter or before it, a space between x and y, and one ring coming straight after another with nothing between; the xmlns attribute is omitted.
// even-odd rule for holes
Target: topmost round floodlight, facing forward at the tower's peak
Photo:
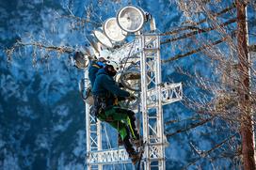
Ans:
<svg viewBox="0 0 256 170"><path fill-rule="evenodd" d="M139 31L146 22L145 12L134 6L121 8L117 15L120 28L129 33Z"/></svg>

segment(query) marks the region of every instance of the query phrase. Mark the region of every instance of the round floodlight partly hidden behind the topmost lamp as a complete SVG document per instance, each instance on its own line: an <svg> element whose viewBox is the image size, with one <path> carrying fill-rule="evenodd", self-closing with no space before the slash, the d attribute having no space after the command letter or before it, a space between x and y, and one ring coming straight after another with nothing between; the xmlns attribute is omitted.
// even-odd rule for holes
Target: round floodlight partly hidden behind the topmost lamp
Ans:
<svg viewBox="0 0 256 170"><path fill-rule="evenodd" d="M104 34L113 41L122 41L127 36L127 32L120 28L116 18L110 18L104 22Z"/></svg>

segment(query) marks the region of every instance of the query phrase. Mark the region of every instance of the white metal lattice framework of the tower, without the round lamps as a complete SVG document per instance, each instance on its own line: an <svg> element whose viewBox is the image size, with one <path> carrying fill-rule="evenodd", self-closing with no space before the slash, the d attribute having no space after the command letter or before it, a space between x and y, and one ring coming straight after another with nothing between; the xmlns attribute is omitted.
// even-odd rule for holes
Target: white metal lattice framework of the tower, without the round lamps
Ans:
<svg viewBox="0 0 256 170"><path fill-rule="evenodd" d="M143 140L146 147L142 159L145 170L166 169L165 144L167 139L164 134L164 116L162 107L178 100L182 100L182 84L163 84L161 78L160 38L155 34L144 34L136 38L135 42L128 43L118 49L115 54L124 56L139 56L140 65L140 110L142 114ZM122 58L120 58L121 60ZM113 58L115 60L115 58ZM119 61L120 61L119 60ZM119 62L118 61L118 62ZM88 72L85 71L86 85ZM87 123L87 164L88 169L103 169L106 164L131 163L123 147L103 150L102 123L95 121L89 115L89 105L86 105Z"/></svg>

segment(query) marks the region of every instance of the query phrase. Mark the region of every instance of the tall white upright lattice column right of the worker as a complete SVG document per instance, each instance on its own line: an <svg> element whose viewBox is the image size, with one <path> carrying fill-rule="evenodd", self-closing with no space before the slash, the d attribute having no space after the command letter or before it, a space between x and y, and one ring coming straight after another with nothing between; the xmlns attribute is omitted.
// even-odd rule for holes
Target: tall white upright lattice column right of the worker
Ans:
<svg viewBox="0 0 256 170"><path fill-rule="evenodd" d="M147 43L147 37L153 37ZM147 45L146 45L147 44ZM160 42L157 35L141 36L141 107L143 138L147 142L144 169L165 169L164 120L162 112ZM153 128L156 125L156 128Z"/></svg>

